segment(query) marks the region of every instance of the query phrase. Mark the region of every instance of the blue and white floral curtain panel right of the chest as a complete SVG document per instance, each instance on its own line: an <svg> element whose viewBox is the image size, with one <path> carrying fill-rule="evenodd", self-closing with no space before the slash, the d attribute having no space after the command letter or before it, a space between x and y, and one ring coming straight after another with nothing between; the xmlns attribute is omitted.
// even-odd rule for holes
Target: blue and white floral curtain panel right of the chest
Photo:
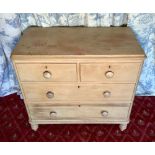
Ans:
<svg viewBox="0 0 155 155"><path fill-rule="evenodd" d="M128 26L147 56L136 93L155 96L155 14L130 14Z"/></svg>

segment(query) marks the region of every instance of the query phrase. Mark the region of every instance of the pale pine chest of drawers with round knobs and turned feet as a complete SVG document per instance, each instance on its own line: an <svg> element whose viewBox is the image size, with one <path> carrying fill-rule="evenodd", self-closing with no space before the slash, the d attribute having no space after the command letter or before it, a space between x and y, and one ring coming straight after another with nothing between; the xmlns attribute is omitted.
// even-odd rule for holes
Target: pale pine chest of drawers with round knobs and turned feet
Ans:
<svg viewBox="0 0 155 155"><path fill-rule="evenodd" d="M28 28L12 60L32 129L56 123L126 129L144 58L129 28Z"/></svg>

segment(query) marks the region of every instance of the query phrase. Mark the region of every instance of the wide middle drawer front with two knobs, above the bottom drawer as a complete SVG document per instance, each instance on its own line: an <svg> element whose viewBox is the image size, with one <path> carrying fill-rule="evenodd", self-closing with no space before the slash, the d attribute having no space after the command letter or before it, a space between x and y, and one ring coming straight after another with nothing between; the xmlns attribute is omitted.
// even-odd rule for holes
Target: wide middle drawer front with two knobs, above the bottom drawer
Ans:
<svg viewBox="0 0 155 155"><path fill-rule="evenodd" d="M134 84L51 84L22 83L28 102L130 101Z"/></svg>

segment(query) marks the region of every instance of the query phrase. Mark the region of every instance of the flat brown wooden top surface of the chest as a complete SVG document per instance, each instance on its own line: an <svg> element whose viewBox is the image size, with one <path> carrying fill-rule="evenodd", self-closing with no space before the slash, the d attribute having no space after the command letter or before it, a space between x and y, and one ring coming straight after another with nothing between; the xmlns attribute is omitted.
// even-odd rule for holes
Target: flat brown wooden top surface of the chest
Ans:
<svg viewBox="0 0 155 155"><path fill-rule="evenodd" d="M128 27L30 27L12 56L101 56L144 57Z"/></svg>

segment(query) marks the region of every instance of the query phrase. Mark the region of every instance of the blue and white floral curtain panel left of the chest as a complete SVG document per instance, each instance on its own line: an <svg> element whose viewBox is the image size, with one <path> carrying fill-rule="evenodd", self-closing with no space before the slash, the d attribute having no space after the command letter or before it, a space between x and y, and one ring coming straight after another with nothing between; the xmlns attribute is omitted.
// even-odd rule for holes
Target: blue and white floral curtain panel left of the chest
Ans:
<svg viewBox="0 0 155 155"><path fill-rule="evenodd" d="M18 81L10 59L21 34L16 14L0 14L0 96L19 92Z"/></svg>

